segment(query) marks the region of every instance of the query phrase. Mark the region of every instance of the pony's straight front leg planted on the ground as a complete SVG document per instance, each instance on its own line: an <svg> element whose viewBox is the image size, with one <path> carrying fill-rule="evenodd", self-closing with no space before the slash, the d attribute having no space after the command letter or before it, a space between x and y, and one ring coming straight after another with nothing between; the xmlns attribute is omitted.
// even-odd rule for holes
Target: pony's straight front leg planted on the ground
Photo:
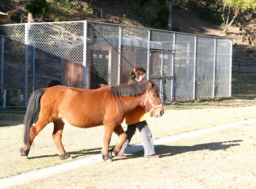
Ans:
<svg viewBox="0 0 256 189"><path fill-rule="evenodd" d="M103 147L101 150L102 158L104 161L112 161L111 156L108 153L108 147L113 133L113 126L110 124L104 125L104 137L103 137Z"/></svg>

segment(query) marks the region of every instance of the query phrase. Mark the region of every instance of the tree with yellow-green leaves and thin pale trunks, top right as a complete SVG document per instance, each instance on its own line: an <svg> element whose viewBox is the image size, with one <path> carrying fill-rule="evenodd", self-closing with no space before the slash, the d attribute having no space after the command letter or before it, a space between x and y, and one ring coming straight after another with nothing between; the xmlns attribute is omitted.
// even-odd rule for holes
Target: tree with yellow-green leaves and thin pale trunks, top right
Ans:
<svg viewBox="0 0 256 189"><path fill-rule="evenodd" d="M256 10L255 0L222 0L223 10L222 19L224 21L224 32L228 31L228 28L234 22L236 17L248 9Z"/></svg>

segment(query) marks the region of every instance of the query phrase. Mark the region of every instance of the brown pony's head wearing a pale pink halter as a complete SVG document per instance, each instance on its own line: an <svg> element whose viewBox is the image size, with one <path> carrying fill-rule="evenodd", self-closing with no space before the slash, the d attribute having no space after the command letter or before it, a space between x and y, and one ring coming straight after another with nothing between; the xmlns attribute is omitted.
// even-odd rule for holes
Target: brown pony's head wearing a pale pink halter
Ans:
<svg viewBox="0 0 256 189"><path fill-rule="evenodd" d="M143 104L145 110L150 112L151 117L161 117L164 114L164 107L159 96L159 88L151 81L147 81L146 98Z"/></svg>

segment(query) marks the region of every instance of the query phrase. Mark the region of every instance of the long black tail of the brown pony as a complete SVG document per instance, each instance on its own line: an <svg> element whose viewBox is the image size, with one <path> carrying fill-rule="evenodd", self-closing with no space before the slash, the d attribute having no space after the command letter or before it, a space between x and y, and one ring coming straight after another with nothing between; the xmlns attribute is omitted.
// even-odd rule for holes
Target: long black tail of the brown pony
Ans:
<svg viewBox="0 0 256 189"><path fill-rule="evenodd" d="M44 93L45 93L44 89L38 89L31 94L28 100L28 106L27 106L25 117L24 117L24 138L23 138L23 142L26 145L30 145L29 131L34 122L36 112L38 112L40 108L40 99L44 95Z"/></svg>

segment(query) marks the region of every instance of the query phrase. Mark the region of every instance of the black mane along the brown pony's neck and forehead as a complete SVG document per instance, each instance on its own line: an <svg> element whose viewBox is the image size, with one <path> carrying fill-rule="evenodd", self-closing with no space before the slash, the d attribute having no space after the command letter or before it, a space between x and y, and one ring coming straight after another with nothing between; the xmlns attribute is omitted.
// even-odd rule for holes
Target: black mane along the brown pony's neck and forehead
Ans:
<svg viewBox="0 0 256 189"><path fill-rule="evenodd" d="M142 95L145 93L147 89L147 83L134 83L132 85L128 84L123 84L123 85L113 85L110 88L110 92L114 96L137 96L137 95ZM159 88L156 85L156 83L152 82L152 87L155 91L159 93Z"/></svg>

